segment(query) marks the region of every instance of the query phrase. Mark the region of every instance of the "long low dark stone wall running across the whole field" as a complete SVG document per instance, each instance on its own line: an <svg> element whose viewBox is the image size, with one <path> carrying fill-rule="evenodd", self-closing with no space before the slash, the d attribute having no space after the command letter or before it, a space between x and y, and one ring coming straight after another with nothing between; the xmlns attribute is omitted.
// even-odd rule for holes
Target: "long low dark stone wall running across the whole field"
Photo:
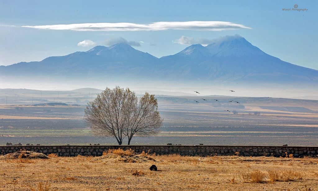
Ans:
<svg viewBox="0 0 318 191"><path fill-rule="evenodd" d="M303 146L209 146L209 145L58 145L58 146L0 146L0 154L18 152L21 149L59 156L101 156L108 149L133 149L156 154L180 154L189 156L239 155L239 156L275 156L318 157L318 147Z"/></svg>

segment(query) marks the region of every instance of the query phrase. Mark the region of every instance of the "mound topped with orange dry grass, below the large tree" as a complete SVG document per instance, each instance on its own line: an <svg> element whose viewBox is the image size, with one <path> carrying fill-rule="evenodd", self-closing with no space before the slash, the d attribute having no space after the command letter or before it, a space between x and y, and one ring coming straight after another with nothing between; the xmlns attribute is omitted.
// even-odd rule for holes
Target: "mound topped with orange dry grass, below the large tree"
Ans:
<svg viewBox="0 0 318 191"><path fill-rule="evenodd" d="M103 155L100 157L94 157L90 160L90 162L127 162L127 163L141 163L141 162L149 162L156 161L151 157L146 157L142 155L121 155L109 153L107 155Z"/></svg>

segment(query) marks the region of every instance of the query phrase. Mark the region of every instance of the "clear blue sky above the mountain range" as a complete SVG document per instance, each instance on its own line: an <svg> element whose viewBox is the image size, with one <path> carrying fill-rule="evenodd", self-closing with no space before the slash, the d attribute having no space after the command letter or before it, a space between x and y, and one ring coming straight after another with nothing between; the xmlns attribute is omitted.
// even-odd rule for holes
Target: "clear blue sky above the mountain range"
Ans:
<svg viewBox="0 0 318 191"><path fill-rule="evenodd" d="M308 10L282 11L283 8L294 8L295 4L298 9ZM241 27L202 30L196 23L191 29L173 28L189 21L221 21ZM31 28L85 23L149 26L157 22L180 23L165 30L139 31ZM178 53L190 43L239 34L265 53L292 64L318 69L317 23L318 3L315 1L0 0L0 65L40 61L49 56L87 51L96 45L110 46L116 42L127 42L137 50L162 57Z"/></svg>

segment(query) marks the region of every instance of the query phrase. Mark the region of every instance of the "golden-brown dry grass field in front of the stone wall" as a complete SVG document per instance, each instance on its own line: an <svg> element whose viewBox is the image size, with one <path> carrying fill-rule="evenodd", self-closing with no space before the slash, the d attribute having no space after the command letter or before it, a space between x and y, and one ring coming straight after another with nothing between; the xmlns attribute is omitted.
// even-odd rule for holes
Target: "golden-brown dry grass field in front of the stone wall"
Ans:
<svg viewBox="0 0 318 191"><path fill-rule="evenodd" d="M111 151L110 156L126 151ZM143 157L136 163L93 161L97 157L0 160L1 191L131 190L317 190L316 158L274 158L176 154ZM128 154L126 153L126 154ZM106 156L106 155L104 155ZM24 161L24 160L22 160ZM159 162L158 162L159 161ZM156 164L158 171L150 171ZM290 165L292 164L292 165Z"/></svg>

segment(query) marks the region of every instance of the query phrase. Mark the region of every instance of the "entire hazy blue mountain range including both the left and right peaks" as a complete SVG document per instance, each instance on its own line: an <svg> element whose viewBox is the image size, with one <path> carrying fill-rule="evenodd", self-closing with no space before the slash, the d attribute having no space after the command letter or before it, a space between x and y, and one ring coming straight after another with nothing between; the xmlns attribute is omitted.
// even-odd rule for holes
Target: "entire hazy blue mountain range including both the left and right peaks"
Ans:
<svg viewBox="0 0 318 191"><path fill-rule="evenodd" d="M268 55L245 38L216 39L156 58L127 44L96 46L86 52L52 56L39 62L0 66L1 82L63 79L87 83L169 84L305 84L317 86L318 71ZM91 82L88 82L91 81ZM60 82L59 82L60 83ZM71 82L70 82L71 83ZM178 86L178 85L176 85ZM301 86L303 87L303 86Z"/></svg>

